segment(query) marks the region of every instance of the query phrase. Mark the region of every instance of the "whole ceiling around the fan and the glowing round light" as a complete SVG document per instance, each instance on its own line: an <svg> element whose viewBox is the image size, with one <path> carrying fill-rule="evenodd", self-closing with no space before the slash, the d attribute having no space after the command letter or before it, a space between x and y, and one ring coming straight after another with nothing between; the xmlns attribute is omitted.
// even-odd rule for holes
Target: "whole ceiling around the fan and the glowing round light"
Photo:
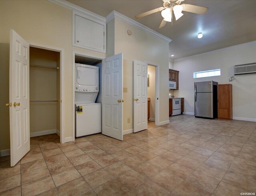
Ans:
<svg viewBox="0 0 256 196"><path fill-rule="evenodd" d="M172 39L169 57L172 59L200 54L256 40L256 0L185 0L183 3L208 7L206 14L183 12L171 26L158 29L160 12L136 19L134 16L162 7L162 0L68 0L86 10L106 17L112 10L144 24ZM198 39L198 32L203 38ZM174 57L171 55L174 54Z"/></svg>

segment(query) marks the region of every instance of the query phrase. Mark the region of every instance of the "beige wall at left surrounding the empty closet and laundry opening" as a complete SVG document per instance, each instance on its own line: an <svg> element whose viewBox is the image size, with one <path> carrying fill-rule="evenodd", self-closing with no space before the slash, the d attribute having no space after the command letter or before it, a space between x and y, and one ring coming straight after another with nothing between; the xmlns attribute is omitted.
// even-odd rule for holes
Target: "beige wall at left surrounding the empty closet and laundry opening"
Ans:
<svg viewBox="0 0 256 196"><path fill-rule="evenodd" d="M10 29L22 38L64 48L65 137L72 136L72 50L105 58L105 54L72 46L72 11L46 0L0 1L0 150L10 148L9 42Z"/></svg>

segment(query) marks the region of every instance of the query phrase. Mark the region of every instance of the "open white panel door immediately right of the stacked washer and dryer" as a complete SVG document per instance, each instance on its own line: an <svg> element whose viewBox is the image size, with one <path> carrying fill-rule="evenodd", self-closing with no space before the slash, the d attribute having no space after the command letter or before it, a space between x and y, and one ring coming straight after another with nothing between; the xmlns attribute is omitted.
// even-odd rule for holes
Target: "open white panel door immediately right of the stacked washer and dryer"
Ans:
<svg viewBox="0 0 256 196"><path fill-rule="evenodd" d="M102 60L102 134L123 140L123 54Z"/></svg>

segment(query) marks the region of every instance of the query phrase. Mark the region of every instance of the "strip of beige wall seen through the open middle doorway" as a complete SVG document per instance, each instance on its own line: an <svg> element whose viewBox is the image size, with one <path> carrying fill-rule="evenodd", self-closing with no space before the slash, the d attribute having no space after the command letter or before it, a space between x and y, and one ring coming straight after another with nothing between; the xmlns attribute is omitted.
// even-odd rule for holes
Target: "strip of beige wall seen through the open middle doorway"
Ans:
<svg viewBox="0 0 256 196"><path fill-rule="evenodd" d="M148 66L149 74L149 87L148 87L148 97L150 98L149 111L150 118L155 118L156 113L156 68L154 66Z"/></svg>

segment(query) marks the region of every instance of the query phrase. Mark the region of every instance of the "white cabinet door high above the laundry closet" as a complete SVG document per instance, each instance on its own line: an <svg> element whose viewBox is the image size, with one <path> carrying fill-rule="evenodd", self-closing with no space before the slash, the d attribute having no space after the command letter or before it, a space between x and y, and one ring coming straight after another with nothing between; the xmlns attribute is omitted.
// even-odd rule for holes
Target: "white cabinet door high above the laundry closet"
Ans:
<svg viewBox="0 0 256 196"><path fill-rule="evenodd" d="M73 46L106 53L106 21L73 12Z"/></svg>

